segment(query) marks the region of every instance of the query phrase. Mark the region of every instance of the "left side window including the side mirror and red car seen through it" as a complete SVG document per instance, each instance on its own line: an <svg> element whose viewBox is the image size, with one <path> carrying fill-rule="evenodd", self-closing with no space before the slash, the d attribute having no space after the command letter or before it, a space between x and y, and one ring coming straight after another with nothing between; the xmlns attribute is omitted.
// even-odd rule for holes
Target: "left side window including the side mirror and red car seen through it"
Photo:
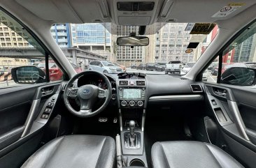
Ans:
<svg viewBox="0 0 256 168"><path fill-rule="evenodd" d="M63 72L49 58L46 75L45 50L12 17L0 10L0 89L62 79ZM27 68L19 68L27 66ZM15 75L15 76L13 76Z"/></svg>

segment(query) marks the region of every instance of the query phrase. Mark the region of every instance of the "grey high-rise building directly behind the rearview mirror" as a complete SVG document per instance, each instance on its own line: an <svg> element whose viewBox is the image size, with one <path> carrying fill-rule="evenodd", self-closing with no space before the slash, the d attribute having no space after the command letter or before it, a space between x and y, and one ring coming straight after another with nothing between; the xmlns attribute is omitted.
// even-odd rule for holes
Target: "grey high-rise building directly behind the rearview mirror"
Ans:
<svg viewBox="0 0 256 168"><path fill-rule="evenodd" d="M130 36L133 32L138 32L138 26L117 26L117 37ZM116 49L116 59L124 66L131 66L131 64L138 66L145 62L145 47L143 46L117 46Z"/></svg>

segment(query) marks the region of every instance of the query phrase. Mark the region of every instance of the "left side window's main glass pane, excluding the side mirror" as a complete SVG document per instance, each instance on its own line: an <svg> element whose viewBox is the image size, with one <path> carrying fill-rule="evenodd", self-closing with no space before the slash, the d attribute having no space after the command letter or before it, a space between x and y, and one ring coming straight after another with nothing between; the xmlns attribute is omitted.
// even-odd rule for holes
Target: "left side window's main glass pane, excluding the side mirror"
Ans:
<svg viewBox="0 0 256 168"><path fill-rule="evenodd" d="M22 85L13 81L13 68L37 67L44 60L45 51L41 45L22 25L0 10L0 89Z"/></svg>

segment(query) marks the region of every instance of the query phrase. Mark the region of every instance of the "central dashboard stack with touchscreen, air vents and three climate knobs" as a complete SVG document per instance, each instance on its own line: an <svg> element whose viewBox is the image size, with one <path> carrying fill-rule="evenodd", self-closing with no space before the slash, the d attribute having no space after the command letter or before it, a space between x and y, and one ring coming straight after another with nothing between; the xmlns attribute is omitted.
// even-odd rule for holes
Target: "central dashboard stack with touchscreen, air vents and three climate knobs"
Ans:
<svg viewBox="0 0 256 168"><path fill-rule="evenodd" d="M145 94L145 74L121 73L118 75L118 100L120 108L143 108Z"/></svg>

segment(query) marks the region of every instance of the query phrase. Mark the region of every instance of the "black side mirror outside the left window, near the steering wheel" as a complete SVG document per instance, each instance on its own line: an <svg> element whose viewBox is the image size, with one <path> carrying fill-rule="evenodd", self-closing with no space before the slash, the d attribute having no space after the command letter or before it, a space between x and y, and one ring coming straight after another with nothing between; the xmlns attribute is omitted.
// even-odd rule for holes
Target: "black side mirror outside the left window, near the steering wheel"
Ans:
<svg viewBox="0 0 256 168"><path fill-rule="evenodd" d="M36 66L20 66L12 68L12 77L17 84L35 84L46 82L46 75Z"/></svg>

